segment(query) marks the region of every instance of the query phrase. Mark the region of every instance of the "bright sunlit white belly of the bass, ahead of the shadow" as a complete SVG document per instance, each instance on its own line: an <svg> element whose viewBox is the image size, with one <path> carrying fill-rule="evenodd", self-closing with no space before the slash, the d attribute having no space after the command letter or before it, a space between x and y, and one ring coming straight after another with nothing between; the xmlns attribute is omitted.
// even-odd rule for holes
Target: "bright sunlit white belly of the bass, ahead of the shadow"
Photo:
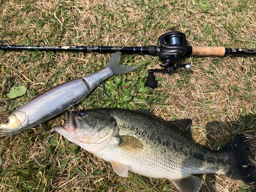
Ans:
<svg viewBox="0 0 256 192"><path fill-rule="evenodd" d="M115 161L123 165L129 165L131 172L153 177L153 178L173 178L179 179L190 175L191 170L181 170L179 165L181 160L172 161L156 151L147 150L146 148L127 152L120 147L106 146L95 153L105 161Z"/></svg>

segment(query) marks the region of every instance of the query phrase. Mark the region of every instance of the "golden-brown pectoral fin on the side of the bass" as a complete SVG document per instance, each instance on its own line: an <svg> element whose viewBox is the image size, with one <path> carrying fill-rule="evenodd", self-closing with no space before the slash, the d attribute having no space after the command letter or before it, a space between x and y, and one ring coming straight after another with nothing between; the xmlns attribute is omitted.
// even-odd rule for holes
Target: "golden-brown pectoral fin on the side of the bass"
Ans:
<svg viewBox="0 0 256 192"><path fill-rule="evenodd" d="M122 150L132 151L143 147L141 141L136 137L121 135L116 136L116 138L118 140L118 146L122 148Z"/></svg>

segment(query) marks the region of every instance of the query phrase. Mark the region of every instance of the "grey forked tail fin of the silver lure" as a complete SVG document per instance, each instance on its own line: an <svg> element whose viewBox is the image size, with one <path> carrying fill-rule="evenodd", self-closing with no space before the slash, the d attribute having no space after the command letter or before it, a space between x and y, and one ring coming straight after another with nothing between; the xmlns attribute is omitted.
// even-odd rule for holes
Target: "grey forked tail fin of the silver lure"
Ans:
<svg viewBox="0 0 256 192"><path fill-rule="evenodd" d="M128 72L131 72L131 71L135 70L136 68L140 67L140 65L139 66L119 65L120 57L121 57L121 52L120 51L115 52L114 55L111 57L109 64L108 64L108 66L113 71L114 75L128 73Z"/></svg>

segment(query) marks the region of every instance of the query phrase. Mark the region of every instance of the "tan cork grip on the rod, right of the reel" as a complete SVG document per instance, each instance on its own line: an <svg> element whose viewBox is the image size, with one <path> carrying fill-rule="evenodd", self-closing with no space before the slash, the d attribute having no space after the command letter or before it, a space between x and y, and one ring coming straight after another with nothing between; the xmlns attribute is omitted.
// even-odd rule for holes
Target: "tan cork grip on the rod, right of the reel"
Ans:
<svg viewBox="0 0 256 192"><path fill-rule="evenodd" d="M223 56L225 55L224 47L192 47L191 56Z"/></svg>

